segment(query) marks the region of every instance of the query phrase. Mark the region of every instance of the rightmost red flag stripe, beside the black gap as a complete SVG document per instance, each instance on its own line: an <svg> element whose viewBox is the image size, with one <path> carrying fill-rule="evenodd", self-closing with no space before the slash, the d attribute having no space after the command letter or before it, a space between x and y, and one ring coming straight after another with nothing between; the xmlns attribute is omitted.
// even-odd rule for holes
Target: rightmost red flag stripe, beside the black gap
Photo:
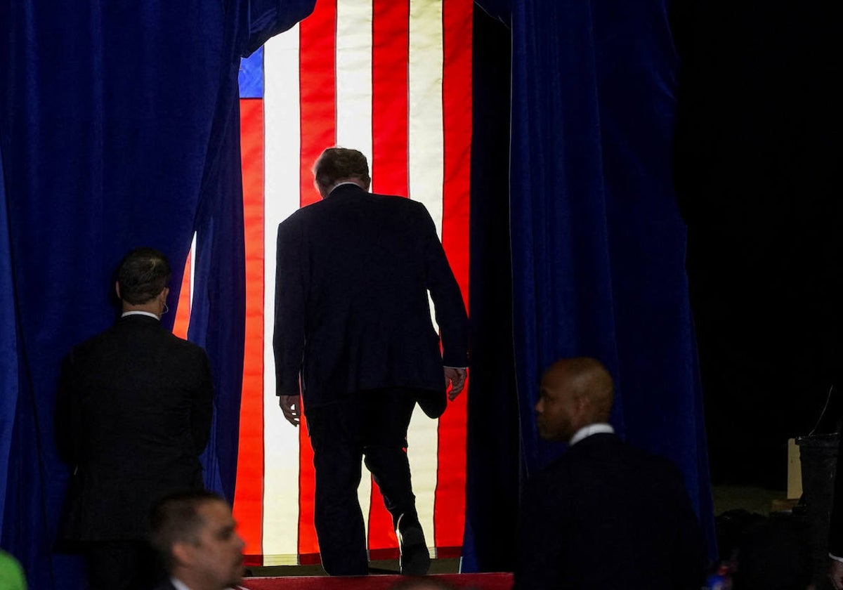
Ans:
<svg viewBox="0 0 843 590"><path fill-rule="evenodd" d="M447 0L443 3L442 94L445 169L442 242L454 276L462 289L466 308L469 294L471 27L471 0ZM438 462L433 514L437 547L459 547L463 541L467 417L465 400L468 394L466 388L439 419L438 448L448 451L448 460Z"/></svg>

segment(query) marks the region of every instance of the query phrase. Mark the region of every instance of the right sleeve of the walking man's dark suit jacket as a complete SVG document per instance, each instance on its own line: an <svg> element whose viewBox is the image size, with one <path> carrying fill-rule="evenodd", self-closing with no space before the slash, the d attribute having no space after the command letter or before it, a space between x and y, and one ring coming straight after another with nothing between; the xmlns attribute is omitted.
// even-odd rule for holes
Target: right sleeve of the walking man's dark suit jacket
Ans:
<svg viewBox="0 0 843 590"><path fill-rule="evenodd" d="M469 324L462 292L448 265L445 249L430 213L419 203L419 225L424 240L425 280L436 310L442 338L443 365L469 366Z"/></svg>

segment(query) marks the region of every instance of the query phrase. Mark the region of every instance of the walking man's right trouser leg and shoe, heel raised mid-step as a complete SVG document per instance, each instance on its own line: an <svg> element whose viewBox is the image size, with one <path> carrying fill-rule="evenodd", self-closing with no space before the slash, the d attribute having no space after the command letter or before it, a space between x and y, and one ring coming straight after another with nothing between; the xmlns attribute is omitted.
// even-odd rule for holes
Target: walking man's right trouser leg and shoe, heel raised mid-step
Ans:
<svg viewBox="0 0 843 590"><path fill-rule="evenodd" d="M430 566L430 553L416 514L410 462L407 460L407 427L416 399L408 389L380 389L369 392L363 453L366 467L384 496L392 515L401 550L401 573L423 575Z"/></svg>

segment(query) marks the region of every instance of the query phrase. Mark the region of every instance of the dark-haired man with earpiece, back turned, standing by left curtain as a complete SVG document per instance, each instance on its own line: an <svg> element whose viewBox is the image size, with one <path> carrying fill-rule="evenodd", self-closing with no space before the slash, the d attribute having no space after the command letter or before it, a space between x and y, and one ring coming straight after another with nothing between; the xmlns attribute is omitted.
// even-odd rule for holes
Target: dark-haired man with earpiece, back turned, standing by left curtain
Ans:
<svg viewBox="0 0 843 590"><path fill-rule="evenodd" d="M207 355L159 324L170 268L133 249L115 285L121 319L65 357L56 407L59 452L72 468L62 538L83 549L94 590L155 580L144 541L153 501L202 487L199 454L212 418Z"/></svg>

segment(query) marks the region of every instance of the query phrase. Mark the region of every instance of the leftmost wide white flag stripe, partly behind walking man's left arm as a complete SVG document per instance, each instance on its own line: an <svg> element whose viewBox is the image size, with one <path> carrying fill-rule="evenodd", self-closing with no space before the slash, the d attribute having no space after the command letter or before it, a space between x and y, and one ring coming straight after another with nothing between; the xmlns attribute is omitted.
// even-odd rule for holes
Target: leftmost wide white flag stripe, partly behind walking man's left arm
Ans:
<svg viewBox="0 0 843 590"><path fill-rule="evenodd" d="M284 420L275 389L272 331L278 223L299 204L298 25L264 48L266 294L264 307L264 565L298 563L298 428Z"/></svg>

